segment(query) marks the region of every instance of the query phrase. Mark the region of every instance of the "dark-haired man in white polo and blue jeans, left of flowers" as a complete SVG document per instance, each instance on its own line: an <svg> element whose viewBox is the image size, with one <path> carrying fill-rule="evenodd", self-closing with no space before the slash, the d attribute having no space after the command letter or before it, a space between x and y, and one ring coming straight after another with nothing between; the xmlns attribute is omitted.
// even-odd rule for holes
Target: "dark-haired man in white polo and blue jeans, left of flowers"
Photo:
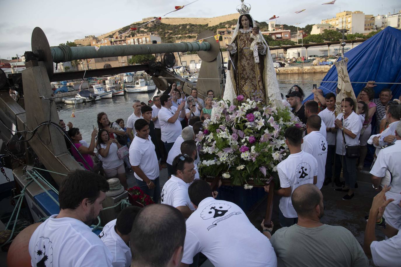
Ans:
<svg viewBox="0 0 401 267"><path fill-rule="evenodd" d="M136 183L146 195L158 203L160 197L159 174L162 166L157 160L154 145L149 136L149 124L143 118L135 122L135 137L130 146L130 163Z"/></svg>

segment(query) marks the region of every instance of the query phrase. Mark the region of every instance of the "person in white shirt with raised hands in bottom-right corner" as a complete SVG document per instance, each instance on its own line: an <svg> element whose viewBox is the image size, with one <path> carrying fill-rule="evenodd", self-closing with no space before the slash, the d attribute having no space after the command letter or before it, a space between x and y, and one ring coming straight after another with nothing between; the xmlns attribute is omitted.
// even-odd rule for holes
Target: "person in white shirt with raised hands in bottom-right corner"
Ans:
<svg viewBox="0 0 401 267"><path fill-rule="evenodd" d="M372 207L369 211L369 219L365 229L365 240L363 249L367 255L372 255L373 263L376 266L398 267L401 257L401 230L387 224L383 219L383 212L389 203L395 202L394 199L386 199L385 194L390 188L385 186L383 190L373 198ZM394 203L401 207L401 203ZM389 239L376 241L375 226L379 226L381 231Z"/></svg>

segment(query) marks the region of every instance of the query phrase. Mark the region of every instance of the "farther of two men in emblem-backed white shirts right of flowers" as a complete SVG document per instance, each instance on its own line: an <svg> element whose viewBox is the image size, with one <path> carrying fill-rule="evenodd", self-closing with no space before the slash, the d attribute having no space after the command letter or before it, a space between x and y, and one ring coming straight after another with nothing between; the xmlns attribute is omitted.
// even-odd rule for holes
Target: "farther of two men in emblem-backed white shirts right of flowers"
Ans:
<svg viewBox="0 0 401 267"><path fill-rule="evenodd" d="M322 189L324 182L324 167L326 166L327 142L320 134L322 119L318 115L310 115L306 121L306 132L301 150L311 154L318 162L318 181L316 186ZM325 127L326 128L326 127Z"/></svg>

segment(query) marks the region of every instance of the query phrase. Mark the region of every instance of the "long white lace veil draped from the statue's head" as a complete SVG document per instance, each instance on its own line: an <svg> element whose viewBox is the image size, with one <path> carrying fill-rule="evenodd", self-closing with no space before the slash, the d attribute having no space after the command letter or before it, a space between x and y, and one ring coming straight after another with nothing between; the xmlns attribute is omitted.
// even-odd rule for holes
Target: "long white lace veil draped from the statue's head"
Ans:
<svg viewBox="0 0 401 267"><path fill-rule="evenodd" d="M252 24L253 26L256 26L256 22L255 20L252 18L251 15L249 15L252 19ZM240 17L241 18L241 17ZM235 38L237 37L237 34L239 32L239 24L241 22L237 21L237 26L235 26L235 30L233 32L233 38L231 39L230 44L232 44L235 41ZM259 32L260 35L261 32ZM265 69L263 71L263 83L265 84L265 94L266 97L272 99L277 99L277 100L281 100L281 94L279 91L279 87L278 87L278 82L277 82L277 77L276 77L276 72L274 69L274 65L273 65L273 59L271 58L271 54L270 54L270 50L269 50L269 46L267 45L266 40L262 38L263 40L263 44L265 44L266 46L266 54L265 54L265 60L264 60L264 64L265 64ZM239 48L237 48L239 49ZM230 52L228 51L229 56L231 57ZM231 61L232 64L232 61ZM236 68L236 66L235 66ZM232 75L234 75L234 69L233 66L231 66L231 70L227 71L227 78L226 78L226 84L225 84L225 89L224 89L224 95L223 95L223 99L224 100L230 100L231 103L233 102L233 99L237 97L237 95L235 94L235 88L233 86L233 81L232 81Z"/></svg>

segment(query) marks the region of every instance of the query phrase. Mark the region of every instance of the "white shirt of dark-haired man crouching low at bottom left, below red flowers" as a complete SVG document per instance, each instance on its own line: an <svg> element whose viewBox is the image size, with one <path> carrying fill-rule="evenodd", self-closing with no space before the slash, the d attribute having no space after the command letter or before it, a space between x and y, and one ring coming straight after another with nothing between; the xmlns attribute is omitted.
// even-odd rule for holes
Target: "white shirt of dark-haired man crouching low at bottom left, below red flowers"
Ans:
<svg viewBox="0 0 401 267"><path fill-rule="evenodd" d="M101 231L99 237L113 255L113 267L130 267L131 249L115 231L117 219L109 221Z"/></svg>

